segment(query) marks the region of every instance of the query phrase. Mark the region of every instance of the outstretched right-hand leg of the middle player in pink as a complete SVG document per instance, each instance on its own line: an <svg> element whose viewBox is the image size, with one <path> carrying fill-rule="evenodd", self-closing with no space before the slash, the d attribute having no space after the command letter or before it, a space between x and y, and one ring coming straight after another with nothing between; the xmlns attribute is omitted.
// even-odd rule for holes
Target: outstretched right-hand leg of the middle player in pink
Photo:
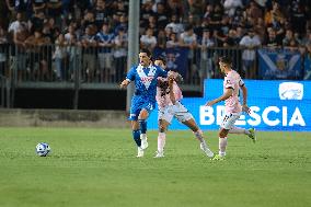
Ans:
<svg viewBox="0 0 311 207"><path fill-rule="evenodd" d="M203 136L203 131L198 128L196 122L194 118L189 118L186 119L184 122L182 122L184 125L186 125L189 129L192 129L192 131L194 133L195 137L197 138L197 140L199 141L199 146L200 149L208 156L208 157L214 157L212 151L210 151L210 149L207 147L204 136Z"/></svg>

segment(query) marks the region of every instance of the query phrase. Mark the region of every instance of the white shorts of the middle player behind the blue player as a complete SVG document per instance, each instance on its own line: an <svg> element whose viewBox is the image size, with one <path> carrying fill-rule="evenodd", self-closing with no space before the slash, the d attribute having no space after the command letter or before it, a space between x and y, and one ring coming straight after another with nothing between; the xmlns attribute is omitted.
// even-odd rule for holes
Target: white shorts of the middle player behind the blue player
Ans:
<svg viewBox="0 0 311 207"><path fill-rule="evenodd" d="M159 108L158 120L164 119L171 124L173 117L181 123L194 118L188 110L181 104L181 102L176 102L175 105L168 105L164 108Z"/></svg>

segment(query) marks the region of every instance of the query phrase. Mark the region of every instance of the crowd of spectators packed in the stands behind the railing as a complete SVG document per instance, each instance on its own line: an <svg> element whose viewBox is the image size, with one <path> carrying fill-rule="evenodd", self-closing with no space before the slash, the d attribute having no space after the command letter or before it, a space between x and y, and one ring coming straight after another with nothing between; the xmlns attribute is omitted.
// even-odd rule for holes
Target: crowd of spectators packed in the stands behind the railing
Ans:
<svg viewBox="0 0 311 207"><path fill-rule="evenodd" d="M256 79L258 47L311 55L310 4L308 0L141 0L140 47L188 48L186 80L196 73L218 76L211 67L214 55L206 53L209 48L240 48L245 78ZM10 55L16 58L21 80L70 80L79 55L85 81L124 78L128 0L5 0L0 2L0 15L2 74L10 73L7 46L13 44ZM44 49L46 45L53 47ZM209 69L197 72L203 65L210 65Z"/></svg>

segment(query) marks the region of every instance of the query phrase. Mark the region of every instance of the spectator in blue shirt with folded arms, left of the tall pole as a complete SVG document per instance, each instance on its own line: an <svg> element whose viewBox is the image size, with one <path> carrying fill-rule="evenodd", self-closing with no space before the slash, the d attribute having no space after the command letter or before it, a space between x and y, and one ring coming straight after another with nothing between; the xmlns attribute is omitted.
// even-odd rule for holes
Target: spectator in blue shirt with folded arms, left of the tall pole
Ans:
<svg viewBox="0 0 311 207"><path fill-rule="evenodd" d="M110 32L108 24L104 23L102 25L102 31L96 34L96 39L99 43L99 64L100 64L100 81L108 82L112 80L114 72L112 70L113 60L113 39L114 34Z"/></svg>

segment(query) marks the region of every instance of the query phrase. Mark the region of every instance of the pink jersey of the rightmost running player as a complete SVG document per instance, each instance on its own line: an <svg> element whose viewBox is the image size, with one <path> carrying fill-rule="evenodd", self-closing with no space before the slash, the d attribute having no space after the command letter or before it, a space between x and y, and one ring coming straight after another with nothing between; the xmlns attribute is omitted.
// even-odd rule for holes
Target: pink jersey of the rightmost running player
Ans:
<svg viewBox="0 0 311 207"><path fill-rule="evenodd" d="M235 70L231 70L226 74L224 81L223 81L223 92L226 91L226 89L233 90L232 95L224 101L226 113L242 112L242 107L241 107L241 104L238 97L240 87L242 85L244 85L244 82Z"/></svg>

